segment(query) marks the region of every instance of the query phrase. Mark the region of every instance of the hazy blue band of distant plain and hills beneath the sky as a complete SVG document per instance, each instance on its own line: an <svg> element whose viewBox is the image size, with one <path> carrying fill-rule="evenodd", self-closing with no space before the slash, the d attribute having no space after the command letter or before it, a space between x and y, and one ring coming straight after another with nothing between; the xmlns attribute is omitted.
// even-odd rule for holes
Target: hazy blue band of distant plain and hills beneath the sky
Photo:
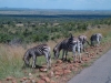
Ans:
<svg viewBox="0 0 111 83"><path fill-rule="evenodd" d="M110 15L111 10L65 10L65 9L27 9L27 8L0 8L0 14L104 14Z"/></svg>

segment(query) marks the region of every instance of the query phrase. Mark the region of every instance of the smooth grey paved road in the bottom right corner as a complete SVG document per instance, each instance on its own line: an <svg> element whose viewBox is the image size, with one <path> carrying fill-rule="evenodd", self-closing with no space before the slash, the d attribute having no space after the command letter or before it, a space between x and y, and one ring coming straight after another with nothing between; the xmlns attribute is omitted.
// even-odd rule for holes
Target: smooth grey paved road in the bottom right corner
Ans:
<svg viewBox="0 0 111 83"><path fill-rule="evenodd" d="M68 83L111 83L111 50Z"/></svg>

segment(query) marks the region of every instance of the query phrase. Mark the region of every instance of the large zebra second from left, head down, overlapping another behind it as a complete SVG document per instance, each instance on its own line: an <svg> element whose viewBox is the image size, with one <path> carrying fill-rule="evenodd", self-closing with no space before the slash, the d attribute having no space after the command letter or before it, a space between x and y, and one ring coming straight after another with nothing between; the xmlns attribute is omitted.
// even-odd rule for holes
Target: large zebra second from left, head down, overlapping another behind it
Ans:
<svg viewBox="0 0 111 83"><path fill-rule="evenodd" d="M54 58L59 58L59 53L62 50L62 60L64 58L65 54L65 60L67 60L67 54L68 51L72 51L73 52L73 56L74 61L77 60L77 53L75 51L78 51L79 55L80 55L80 62L81 62L81 53L80 53L80 49L81 49L82 43L79 41L78 38L73 38L72 35L69 39L63 40L62 42L58 43L54 48L53 48L53 53L54 53Z"/></svg>

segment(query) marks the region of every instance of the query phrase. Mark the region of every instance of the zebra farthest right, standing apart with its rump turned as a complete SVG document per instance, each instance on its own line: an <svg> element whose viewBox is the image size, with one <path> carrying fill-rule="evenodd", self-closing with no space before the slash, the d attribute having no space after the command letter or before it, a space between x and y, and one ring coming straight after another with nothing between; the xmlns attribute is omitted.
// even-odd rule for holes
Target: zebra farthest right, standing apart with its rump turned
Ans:
<svg viewBox="0 0 111 83"><path fill-rule="evenodd" d="M91 38L90 38L91 45L94 45L94 42L97 42L97 45L99 45L101 39L102 39L102 34L101 33L94 33L94 34L92 34Z"/></svg>

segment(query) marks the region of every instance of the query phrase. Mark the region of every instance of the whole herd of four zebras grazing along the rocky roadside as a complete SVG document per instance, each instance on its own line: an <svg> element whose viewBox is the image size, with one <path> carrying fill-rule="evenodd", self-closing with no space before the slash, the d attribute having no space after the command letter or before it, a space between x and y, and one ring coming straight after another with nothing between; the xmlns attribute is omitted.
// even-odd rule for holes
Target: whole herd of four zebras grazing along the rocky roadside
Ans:
<svg viewBox="0 0 111 83"><path fill-rule="evenodd" d="M68 52L71 51L73 53L73 61L77 61L77 55L79 55L79 61L81 62L81 52L85 50L84 44L88 43L89 45L94 45L94 42L97 44L100 44L100 41L102 39L101 33L94 33L91 35L90 41L91 44L88 41L88 38L85 35L79 35L78 38L70 34L70 37L61 42L59 42L53 48L53 55L54 59L58 59L60 55L60 51L62 50L62 60L67 60ZM32 58L32 68L36 68L36 61L37 56L44 55L47 60L47 68L51 68L51 49L48 44L40 44L37 46L33 46L29 49L24 55L23 61L27 66L30 64L30 59ZM77 54L78 52L78 54ZM65 58L64 58L65 55Z"/></svg>

